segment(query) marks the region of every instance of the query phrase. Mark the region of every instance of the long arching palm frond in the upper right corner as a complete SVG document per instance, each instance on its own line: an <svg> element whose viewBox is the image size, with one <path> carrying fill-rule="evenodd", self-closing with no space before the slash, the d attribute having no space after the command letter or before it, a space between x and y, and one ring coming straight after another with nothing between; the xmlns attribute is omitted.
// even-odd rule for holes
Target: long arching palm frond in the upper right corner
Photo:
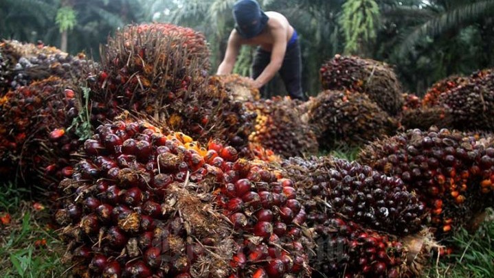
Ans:
<svg viewBox="0 0 494 278"><path fill-rule="evenodd" d="M458 8L453 8L447 12L437 14L434 18L416 27L405 40L403 40L399 52L401 55L405 55L412 47L414 47L414 45L416 45L420 38L423 38L424 36L438 36L446 30L469 23L482 14L492 12L493 8L494 0L486 0L460 5Z"/></svg>

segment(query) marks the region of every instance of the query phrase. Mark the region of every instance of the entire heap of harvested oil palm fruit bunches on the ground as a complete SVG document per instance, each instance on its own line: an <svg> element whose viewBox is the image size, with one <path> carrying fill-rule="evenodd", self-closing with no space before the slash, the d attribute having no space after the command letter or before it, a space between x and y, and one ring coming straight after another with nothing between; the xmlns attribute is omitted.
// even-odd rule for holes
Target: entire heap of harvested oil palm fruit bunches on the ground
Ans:
<svg viewBox="0 0 494 278"><path fill-rule="evenodd" d="M75 277L416 277L430 227L492 204L491 135L425 131L489 130L491 71L420 100L388 65L335 56L302 103L208 76L209 54L163 23L118 31L101 65L0 45L0 174L56 196ZM386 137L400 125L423 130ZM359 162L309 157L375 139Z"/></svg>

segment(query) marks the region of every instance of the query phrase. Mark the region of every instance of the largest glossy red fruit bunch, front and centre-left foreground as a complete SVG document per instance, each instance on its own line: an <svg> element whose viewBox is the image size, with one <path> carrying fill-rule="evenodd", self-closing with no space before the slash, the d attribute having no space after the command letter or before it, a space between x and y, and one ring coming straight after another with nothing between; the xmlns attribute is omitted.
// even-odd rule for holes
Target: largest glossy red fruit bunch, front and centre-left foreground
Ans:
<svg viewBox="0 0 494 278"><path fill-rule="evenodd" d="M305 211L279 172L143 121L97 128L60 183L67 255L102 277L308 277ZM282 227L283 229L280 229ZM253 276L254 275L254 276Z"/></svg>

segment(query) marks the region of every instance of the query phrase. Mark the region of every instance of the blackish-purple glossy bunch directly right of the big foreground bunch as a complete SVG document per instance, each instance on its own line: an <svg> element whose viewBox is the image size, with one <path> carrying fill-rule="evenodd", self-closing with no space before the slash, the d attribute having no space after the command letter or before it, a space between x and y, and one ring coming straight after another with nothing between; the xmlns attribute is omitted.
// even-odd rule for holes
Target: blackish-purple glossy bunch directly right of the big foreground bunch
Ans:
<svg viewBox="0 0 494 278"><path fill-rule="evenodd" d="M284 161L282 169L302 192L302 205L314 211L309 218L339 215L395 235L416 233L427 220L425 205L401 179L367 165L334 157L297 157Z"/></svg>

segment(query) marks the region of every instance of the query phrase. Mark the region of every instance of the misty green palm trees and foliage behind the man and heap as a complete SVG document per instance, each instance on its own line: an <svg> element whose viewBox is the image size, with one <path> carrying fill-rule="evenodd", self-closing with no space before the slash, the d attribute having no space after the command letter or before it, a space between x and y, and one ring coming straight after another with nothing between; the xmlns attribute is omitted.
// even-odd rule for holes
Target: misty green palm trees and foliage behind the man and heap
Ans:
<svg viewBox="0 0 494 278"><path fill-rule="evenodd" d="M212 50L214 72L234 25L234 2L3 0L0 37L27 42L43 40L47 45L60 47L62 36L67 36L67 51L85 51L98 60L99 45L106 43L118 28L128 23L171 22L205 34ZM395 65L405 89L418 95L441 78L494 66L494 0L259 2L264 10L287 16L300 34L303 86L309 95L320 91L319 67L335 54L355 54ZM253 53L251 47L243 48L236 73L248 75ZM279 90L271 91L282 94Z"/></svg>

